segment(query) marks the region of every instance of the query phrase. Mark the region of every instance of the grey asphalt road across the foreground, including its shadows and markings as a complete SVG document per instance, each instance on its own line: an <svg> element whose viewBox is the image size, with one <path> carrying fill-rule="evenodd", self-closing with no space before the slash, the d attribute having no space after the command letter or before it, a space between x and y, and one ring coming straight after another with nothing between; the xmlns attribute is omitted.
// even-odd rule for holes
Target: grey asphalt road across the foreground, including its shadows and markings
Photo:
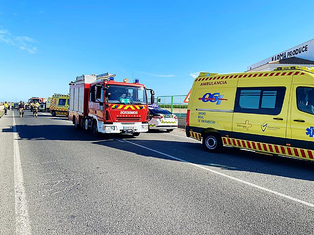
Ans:
<svg viewBox="0 0 314 235"><path fill-rule="evenodd" d="M312 163L210 154L182 130L96 139L13 112L0 118L0 234L314 234Z"/></svg>

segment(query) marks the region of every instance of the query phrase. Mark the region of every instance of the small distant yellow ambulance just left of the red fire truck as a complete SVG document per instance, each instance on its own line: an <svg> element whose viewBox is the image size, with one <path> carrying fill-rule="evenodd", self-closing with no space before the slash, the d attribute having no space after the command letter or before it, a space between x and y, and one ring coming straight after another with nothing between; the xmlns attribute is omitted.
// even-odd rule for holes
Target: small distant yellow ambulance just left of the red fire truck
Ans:
<svg viewBox="0 0 314 235"><path fill-rule="evenodd" d="M70 95L68 94L53 94L50 103L50 113L52 116L68 116L69 99Z"/></svg>

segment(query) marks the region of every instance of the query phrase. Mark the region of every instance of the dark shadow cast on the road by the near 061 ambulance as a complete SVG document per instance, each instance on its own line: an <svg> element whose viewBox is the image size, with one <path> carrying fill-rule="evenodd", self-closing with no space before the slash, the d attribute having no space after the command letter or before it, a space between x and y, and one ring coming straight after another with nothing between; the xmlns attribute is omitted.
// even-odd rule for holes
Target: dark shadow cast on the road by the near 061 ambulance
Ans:
<svg viewBox="0 0 314 235"><path fill-rule="evenodd" d="M161 133L161 135L163 134ZM270 156L233 147L224 147L220 153L209 153L203 149L200 143L134 140L131 139L131 137L129 138L130 140L128 141L130 142L160 151L193 164L314 181L314 164L312 162L298 161L280 156ZM95 141L93 143L133 152L141 156L178 161L127 142Z"/></svg>

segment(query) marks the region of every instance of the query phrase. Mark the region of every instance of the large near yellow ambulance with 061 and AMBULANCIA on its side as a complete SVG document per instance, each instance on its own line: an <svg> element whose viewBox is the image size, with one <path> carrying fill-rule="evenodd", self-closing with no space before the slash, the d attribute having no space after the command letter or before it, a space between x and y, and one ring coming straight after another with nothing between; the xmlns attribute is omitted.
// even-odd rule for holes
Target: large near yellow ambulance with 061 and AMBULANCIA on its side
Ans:
<svg viewBox="0 0 314 235"><path fill-rule="evenodd" d="M194 80L186 136L314 161L314 68L217 74Z"/></svg>

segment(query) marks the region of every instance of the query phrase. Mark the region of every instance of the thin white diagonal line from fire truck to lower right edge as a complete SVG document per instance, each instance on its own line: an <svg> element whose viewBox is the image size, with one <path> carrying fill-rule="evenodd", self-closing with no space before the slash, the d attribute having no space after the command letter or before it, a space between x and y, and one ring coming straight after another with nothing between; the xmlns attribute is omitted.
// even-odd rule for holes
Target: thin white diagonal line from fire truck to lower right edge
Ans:
<svg viewBox="0 0 314 235"><path fill-rule="evenodd" d="M140 144L137 144L137 143L133 143L133 142L131 142L131 141L126 141L126 140L122 140L122 139L116 139L116 140L123 141L123 142L127 142L127 143L130 143L130 144L136 145L136 146L138 146L138 147L142 147L142 148L151 150L151 151L153 151L153 152L159 153L159 154L164 155L164 156L167 156L167 157L169 157L169 158L178 160L178 161L180 161L180 162L187 163L187 164L191 164L191 165L196 166L196 167L198 167L198 168L207 170L207 171L209 171L209 172L211 172L211 173L214 173L214 174L217 174L217 175L220 175L220 176L229 178L229 179L231 179L231 180L240 182L240 183L242 183L242 184L249 185L249 186L254 187L254 188L259 188L259 189L264 190L264 191L266 191L266 192L270 192L270 193L273 193L273 194L275 194L275 195L278 195L278 196L287 198L287 199L289 199L289 200L292 200L292 201L295 201L295 202L298 202L298 203L301 203L301 204L304 204L304 205L307 205L307 206L309 206L309 207L313 207L313 208L314 208L314 204L312 204L312 203L302 201L302 200L300 200L300 199L297 199L297 198L288 196L288 195L286 195L286 194L283 194L283 193L280 193L280 192L277 192L277 191L274 191L274 190L271 190L271 189L268 189L268 188L261 187L261 186L259 186L259 185L252 184L252 183L247 182L247 181L244 181L244 180L240 180L240 179L235 178L235 177L233 177L233 176L226 175L226 174L224 174L224 173L221 173L221 172L218 172L218 171L209 169L209 168L207 168L207 167L205 167L205 166L187 162L187 161L185 161L185 160L183 160L183 159L176 158L176 157L171 156L171 155L169 155L169 154L166 154L166 153L157 151L157 150L152 149L152 148L145 147L145 146L140 145Z"/></svg>

